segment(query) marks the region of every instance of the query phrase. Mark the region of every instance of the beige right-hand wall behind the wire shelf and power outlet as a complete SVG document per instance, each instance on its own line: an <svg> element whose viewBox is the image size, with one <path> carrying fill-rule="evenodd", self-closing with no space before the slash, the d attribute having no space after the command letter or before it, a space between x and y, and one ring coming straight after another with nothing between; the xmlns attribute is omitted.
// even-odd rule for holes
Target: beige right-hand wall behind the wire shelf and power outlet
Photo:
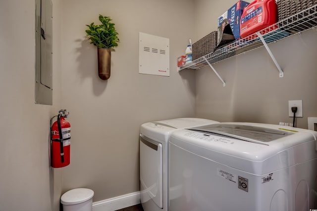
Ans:
<svg viewBox="0 0 317 211"><path fill-rule="evenodd" d="M217 17L236 0L227 0L221 6L207 0L195 2L195 36L200 39L216 30ZM206 25L204 20L211 18L212 23ZM292 123L288 117L288 101L303 100L304 117L298 118L297 124L307 128L307 117L317 116L317 31L272 43L269 48L284 71L283 78L279 78L264 47L213 64L226 87L222 87L210 67L196 71L197 117Z"/></svg>

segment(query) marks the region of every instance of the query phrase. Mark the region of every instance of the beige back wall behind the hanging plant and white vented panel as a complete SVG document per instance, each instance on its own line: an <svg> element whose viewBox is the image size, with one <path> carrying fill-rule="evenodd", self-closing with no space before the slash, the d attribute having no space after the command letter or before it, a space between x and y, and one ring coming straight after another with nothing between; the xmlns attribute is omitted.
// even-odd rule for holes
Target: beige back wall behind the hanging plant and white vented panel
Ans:
<svg viewBox="0 0 317 211"><path fill-rule="evenodd" d="M192 0L64 0L62 106L70 111L71 164L63 191L87 187L94 201L139 191L139 128L144 122L195 116L195 72L176 71L193 36ZM97 74L86 24L110 16L119 33L111 76ZM185 27L186 26L186 27ZM139 74L139 32L169 38L170 77Z"/></svg>

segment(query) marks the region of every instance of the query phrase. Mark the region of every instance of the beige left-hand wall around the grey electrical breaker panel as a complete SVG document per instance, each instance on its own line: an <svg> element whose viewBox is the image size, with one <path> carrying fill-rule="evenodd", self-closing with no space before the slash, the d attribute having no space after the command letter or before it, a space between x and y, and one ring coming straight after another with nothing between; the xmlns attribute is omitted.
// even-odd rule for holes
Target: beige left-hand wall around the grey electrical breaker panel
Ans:
<svg viewBox="0 0 317 211"><path fill-rule="evenodd" d="M61 106L60 0L53 0L53 106L36 105L35 1L0 2L0 210L57 211L62 169L49 166L50 119Z"/></svg>

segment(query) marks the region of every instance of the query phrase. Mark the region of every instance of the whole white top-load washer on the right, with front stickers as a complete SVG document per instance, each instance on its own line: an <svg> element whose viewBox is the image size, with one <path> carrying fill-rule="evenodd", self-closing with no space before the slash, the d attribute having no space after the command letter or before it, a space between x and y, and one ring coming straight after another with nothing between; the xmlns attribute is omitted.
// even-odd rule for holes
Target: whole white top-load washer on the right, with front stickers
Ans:
<svg viewBox="0 0 317 211"><path fill-rule="evenodd" d="M169 210L317 210L316 137L316 131L259 123L174 131Z"/></svg>

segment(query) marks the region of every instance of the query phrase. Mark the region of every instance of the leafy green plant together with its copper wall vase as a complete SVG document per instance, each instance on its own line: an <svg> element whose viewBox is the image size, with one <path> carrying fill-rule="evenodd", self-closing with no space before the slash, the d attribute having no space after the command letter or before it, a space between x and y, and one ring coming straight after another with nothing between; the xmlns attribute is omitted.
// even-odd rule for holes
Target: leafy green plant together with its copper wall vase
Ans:
<svg viewBox="0 0 317 211"><path fill-rule="evenodd" d="M86 25L89 28L86 33L91 44L98 47L98 75L107 80L110 77L111 50L118 46L119 39L110 17L99 15L99 20L101 25Z"/></svg>

